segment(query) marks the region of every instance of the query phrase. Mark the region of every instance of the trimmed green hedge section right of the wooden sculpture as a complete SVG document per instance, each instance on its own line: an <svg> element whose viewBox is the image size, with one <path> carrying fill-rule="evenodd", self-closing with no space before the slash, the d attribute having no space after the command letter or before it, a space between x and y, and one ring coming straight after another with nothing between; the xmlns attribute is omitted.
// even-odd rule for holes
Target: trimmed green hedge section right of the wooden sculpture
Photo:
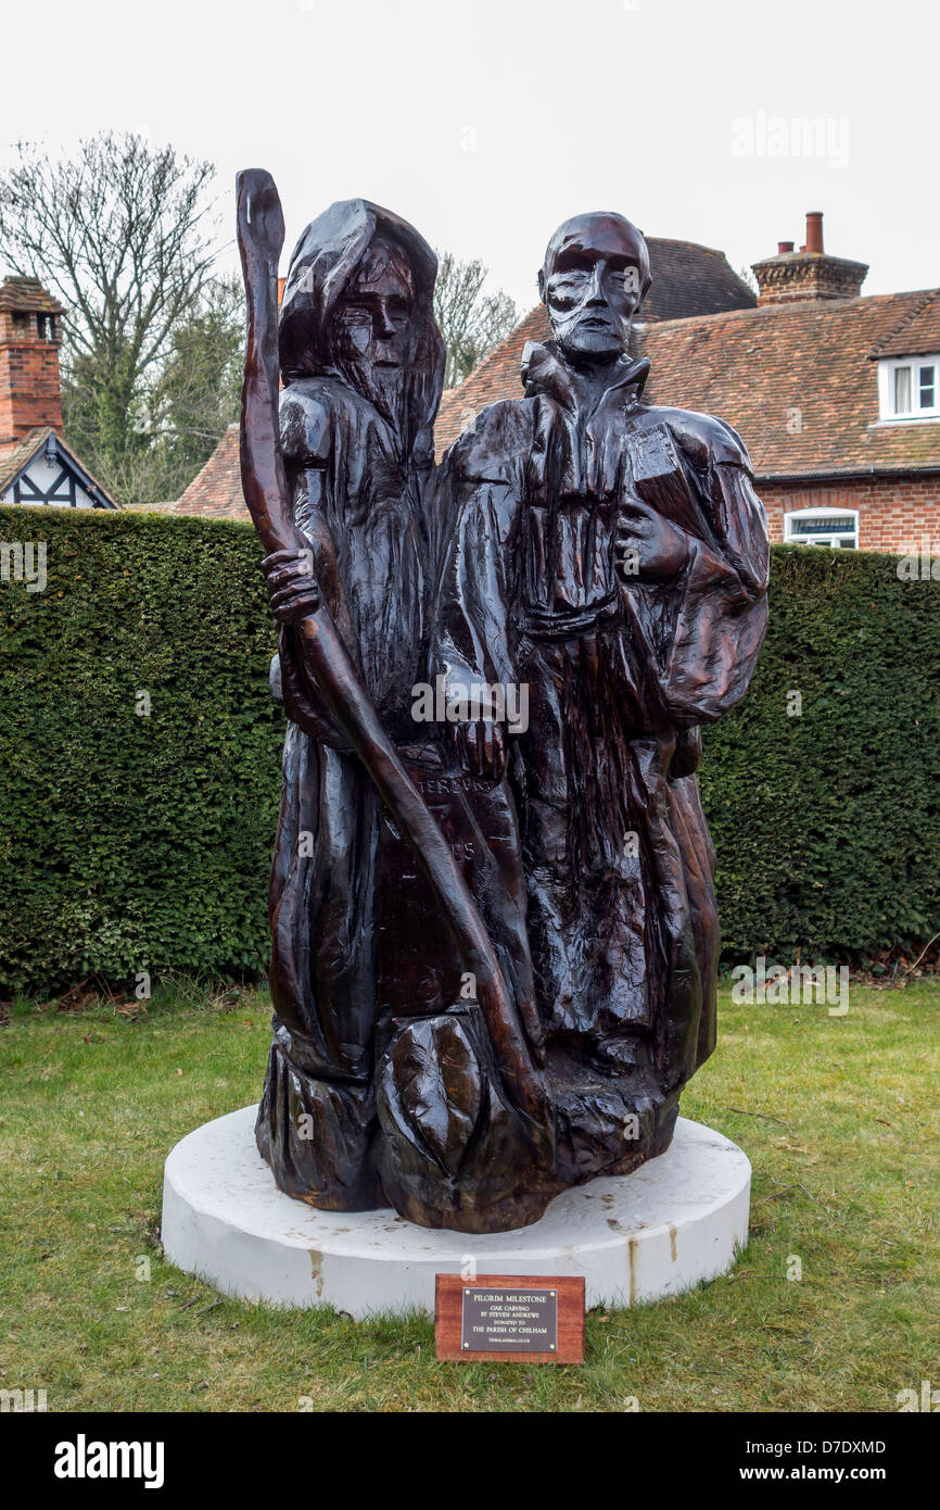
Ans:
<svg viewBox="0 0 940 1510"><path fill-rule="evenodd" d="M922 945L940 930L940 581L871 551L771 556L757 672L703 734L723 954Z"/></svg>

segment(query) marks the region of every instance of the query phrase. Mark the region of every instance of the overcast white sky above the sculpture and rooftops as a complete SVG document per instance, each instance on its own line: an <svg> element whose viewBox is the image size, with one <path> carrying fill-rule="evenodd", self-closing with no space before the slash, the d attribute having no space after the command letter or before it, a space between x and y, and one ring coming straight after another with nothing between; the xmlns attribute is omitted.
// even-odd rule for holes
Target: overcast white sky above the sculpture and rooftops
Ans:
<svg viewBox="0 0 940 1510"><path fill-rule="evenodd" d="M804 239L866 293L940 284L940 21L928 0L44 0L5 9L0 163L146 130L269 168L288 248L364 195L481 257L519 305L554 226L620 210L733 267ZM822 122L806 156L794 122ZM797 140L792 140L795 130ZM786 151L782 154L780 148Z"/></svg>

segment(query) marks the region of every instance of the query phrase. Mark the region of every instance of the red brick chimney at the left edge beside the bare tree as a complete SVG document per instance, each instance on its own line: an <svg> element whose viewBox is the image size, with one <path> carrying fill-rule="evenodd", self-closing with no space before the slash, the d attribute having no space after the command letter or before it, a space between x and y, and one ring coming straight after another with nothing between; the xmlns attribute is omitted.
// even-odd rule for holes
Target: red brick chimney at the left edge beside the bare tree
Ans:
<svg viewBox="0 0 940 1510"><path fill-rule="evenodd" d="M0 456L30 430L62 433L62 305L36 278L0 284Z"/></svg>

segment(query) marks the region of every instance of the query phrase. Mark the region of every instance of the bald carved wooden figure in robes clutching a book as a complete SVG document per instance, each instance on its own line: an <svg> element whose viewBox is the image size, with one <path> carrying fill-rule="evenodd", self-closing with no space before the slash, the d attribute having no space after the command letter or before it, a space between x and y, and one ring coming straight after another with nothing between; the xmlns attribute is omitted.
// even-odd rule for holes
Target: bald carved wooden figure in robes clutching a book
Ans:
<svg viewBox="0 0 940 1510"><path fill-rule="evenodd" d="M432 672L453 698L528 687L528 728L475 734L474 755L518 806L564 1185L662 1152L714 1046L697 726L744 695L766 625L739 436L643 402L628 340L647 285L628 220L566 222L540 273L555 340L527 347L525 397L484 409L442 467L454 538Z"/></svg>

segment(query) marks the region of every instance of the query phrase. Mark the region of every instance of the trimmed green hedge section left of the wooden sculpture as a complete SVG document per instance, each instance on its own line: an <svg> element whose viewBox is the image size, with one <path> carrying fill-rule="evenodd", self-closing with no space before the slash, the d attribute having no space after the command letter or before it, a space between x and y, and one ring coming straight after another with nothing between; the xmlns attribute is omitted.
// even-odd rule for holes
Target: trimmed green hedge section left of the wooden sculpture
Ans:
<svg viewBox="0 0 940 1510"><path fill-rule="evenodd" d="M5 507L0 539L48 572L0 583L0 989L264 969L284 731L253 530Z"/></svg>

